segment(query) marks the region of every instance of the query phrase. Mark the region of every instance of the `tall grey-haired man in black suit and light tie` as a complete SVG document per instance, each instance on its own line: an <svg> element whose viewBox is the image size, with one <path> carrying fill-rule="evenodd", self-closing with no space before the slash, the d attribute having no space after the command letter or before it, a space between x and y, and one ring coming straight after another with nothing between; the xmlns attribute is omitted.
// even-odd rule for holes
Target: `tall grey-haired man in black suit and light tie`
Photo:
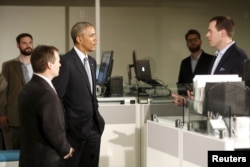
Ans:
<svg viewBox="0 0 250 167"><path fill-rule="evenodd" d="M74 48L62 56L60 74L53 80L67 116L67 136L75 148L67 166L98 167L105 123L98 111L96 61L88 55L96 49L95 28L78 22L71 29L71 37Z"/></svg>

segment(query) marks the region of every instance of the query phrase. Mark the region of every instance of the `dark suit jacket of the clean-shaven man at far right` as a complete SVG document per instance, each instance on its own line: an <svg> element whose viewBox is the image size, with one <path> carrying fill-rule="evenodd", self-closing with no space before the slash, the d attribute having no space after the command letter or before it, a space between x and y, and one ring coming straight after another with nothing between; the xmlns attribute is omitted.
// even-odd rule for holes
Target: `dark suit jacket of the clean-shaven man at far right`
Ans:
<svg viewBox="0 0 250 167"><path fill-rule="evenodd" d="M247 54L236 44L233 44L222 56L214 74L238 74L241 77L243 75L243 64L247 58ZM209 74L211 74L215 59L216 57L211 63Z"/></svg>

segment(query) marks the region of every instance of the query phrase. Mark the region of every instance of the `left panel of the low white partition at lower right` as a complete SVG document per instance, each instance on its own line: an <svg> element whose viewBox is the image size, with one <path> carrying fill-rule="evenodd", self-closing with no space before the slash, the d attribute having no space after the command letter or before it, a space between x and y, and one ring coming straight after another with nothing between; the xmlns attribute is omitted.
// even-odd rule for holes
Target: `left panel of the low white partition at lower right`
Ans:
<svg viewBox="0 0 250 167"><path fill-rule="evenodd" d="M181 166L181 130L148 121L147 167Z"/></svg>

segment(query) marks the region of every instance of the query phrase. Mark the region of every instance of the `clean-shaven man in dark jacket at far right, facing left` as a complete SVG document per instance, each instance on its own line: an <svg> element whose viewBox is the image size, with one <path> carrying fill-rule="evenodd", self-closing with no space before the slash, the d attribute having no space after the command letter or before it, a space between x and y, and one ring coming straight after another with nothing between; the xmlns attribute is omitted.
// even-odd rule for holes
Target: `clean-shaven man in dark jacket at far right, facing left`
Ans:
<svg viewBox="0 0 250 167"><path fill-rule="evenodd" d="M235 24L228 16L210 19L206 37L209 44L217 49L209 74L243 75L243 64L247 54L233 41Z"/></svg>

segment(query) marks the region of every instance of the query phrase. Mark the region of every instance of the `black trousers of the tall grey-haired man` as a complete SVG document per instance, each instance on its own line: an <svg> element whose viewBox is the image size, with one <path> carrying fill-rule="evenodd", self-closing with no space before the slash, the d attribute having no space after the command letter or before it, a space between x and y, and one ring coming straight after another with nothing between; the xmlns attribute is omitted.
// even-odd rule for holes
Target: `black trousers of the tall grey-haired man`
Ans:
<svg viewBox="0 0 250 167"><path fill-rule="evenodd" d="M66 160L67 167L98 167L100 157L101 135L94 124L87 140L76 141L68 136L68 140L74 147L73 157Z"/></svg>

